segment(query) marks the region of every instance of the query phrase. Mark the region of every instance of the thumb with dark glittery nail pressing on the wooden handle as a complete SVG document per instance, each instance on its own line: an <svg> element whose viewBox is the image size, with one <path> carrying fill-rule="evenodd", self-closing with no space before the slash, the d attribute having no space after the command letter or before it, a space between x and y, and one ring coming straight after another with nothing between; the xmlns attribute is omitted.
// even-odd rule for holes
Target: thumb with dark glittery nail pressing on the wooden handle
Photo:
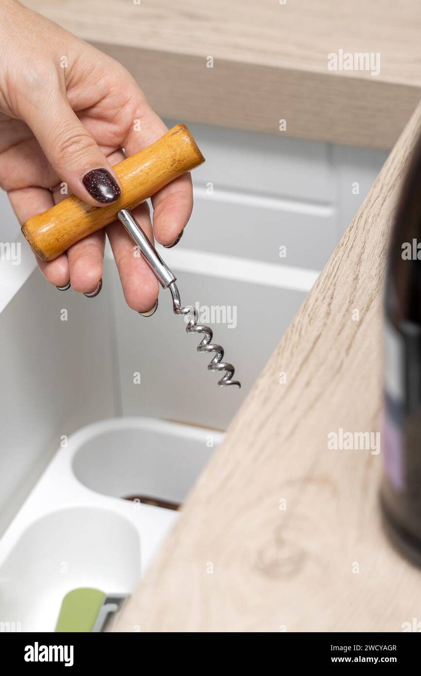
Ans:
<svg viewBox="0 0 421 676"><path fill-rule="evenodd" d="M120 197L114 169L61 92L50 105L32 107L24 121L69 193L93 206Z"/></svg>

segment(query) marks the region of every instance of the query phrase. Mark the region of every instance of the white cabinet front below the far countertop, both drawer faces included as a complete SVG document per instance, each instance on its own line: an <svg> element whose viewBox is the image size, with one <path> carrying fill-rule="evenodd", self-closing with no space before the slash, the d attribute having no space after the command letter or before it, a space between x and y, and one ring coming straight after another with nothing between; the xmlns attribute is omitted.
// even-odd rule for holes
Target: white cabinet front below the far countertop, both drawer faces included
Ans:
<svg viewBox="0 0 421 676"><path fill-rule="evenodd" d="M193 172L183 246L274 262L285 245L278 262L299 267L324 267L387 158L282 132L189 127L206 162Z"/></svg>

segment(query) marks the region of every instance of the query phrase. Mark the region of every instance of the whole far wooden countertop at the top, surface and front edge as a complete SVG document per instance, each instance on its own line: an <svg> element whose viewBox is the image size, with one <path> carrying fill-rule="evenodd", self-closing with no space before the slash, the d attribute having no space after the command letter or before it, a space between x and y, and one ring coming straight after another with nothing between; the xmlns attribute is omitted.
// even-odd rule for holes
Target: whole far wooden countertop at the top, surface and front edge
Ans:
<svg viewBox="0 0 421 676"><path fill-rule="evenodd" d="M122 62L162 116L390 148L421 95L418 0L26 0ZM379 53L380 74L328 70ZM213 68L208 68L209 57Z"/></svg>

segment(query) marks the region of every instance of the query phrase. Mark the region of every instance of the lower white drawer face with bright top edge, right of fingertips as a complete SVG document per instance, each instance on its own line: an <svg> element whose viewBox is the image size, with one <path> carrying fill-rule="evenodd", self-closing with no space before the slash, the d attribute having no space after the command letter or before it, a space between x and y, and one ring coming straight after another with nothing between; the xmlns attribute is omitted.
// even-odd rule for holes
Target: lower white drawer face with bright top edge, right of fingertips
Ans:
<svg viewBox="0 0 421 676"><path fill-rule="evenodd" d="M195 189L193 215L180 243L189 249L316 270L324 267L336 244L336 211L331 206L226 191L207 195L200 188Z"/></svg>

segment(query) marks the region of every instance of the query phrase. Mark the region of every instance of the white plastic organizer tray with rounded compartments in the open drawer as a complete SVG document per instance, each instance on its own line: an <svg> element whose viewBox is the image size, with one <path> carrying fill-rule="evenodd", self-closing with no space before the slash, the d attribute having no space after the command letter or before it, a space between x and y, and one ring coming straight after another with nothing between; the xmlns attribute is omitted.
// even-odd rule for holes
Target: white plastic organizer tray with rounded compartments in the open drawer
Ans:
<svg viewBox="0 0 421 676"><path fill-rule="evenodd" d="M77 587L130 594L222 435L151 418L80 429L59 448L0 541L0 623L54 631ZM132 498L123 500L122 498Z"/></svg>

